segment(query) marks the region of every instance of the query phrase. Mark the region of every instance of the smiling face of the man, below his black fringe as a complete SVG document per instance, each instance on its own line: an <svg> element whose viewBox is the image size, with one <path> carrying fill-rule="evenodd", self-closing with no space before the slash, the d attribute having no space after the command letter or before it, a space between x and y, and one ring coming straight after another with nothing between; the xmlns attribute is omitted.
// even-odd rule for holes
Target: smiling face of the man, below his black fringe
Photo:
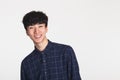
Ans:
<svg viewBox="0 0 120 80"><path fill-rule="evenodd" d="M27 35L33 40L35 44L42 43L46 39L48 29L45 24L35 24L27 27Z"/></svg>

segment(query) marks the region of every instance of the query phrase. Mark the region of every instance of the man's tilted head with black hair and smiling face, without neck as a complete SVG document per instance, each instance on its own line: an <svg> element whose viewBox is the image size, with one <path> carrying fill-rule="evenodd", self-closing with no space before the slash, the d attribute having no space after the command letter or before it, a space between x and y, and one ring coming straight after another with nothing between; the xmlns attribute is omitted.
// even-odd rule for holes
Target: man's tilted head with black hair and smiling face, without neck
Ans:
<svg viewBox="0 0 120 80"><path fill-rule="evenodd" d="M48 17L40 11L31 11L23 17L27 35L35 44L43 43L46 38Z"/></svg>

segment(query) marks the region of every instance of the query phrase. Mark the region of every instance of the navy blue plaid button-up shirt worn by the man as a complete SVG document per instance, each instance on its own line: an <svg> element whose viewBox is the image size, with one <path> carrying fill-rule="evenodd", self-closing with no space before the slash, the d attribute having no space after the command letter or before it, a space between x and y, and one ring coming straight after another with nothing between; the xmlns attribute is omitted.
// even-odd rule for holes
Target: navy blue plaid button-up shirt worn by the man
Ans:
<svg viewBox="0 0 120 80"><path fill-rule="evenodd" d="M51 41L44 51L35 48L21 63L21 80L81 80L73 49Z"/></svg>

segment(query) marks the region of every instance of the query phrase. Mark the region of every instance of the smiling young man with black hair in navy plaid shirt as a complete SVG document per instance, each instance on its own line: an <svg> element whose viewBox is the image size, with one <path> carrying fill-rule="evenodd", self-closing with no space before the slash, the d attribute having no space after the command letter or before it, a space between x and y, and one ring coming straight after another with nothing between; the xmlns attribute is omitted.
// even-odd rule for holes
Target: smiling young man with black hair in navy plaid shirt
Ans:
<svg viewBox="0 0 120 80"><path fill-rule="evenodd" d="M47 15L40 11L31 11L23 17L35 49L21 63L21 80L81 80L72 47L48 40L47 23Z"/></svg>

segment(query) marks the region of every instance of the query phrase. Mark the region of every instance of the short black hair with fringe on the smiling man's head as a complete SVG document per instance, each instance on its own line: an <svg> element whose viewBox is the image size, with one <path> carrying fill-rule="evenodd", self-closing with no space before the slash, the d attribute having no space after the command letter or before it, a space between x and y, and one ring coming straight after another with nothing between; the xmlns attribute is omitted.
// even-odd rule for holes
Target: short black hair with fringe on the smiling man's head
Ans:
<svg viewBox="0 0 120 80"><path fill-rule="evenodd" d="M45 26L47 27L48 17L42 11L31 11L31 12L25 14L22 22L23 22L24 28L26 30L27 30L28 26L35 25L37 23L39 23L39 24L44 23Z"/></svg>

